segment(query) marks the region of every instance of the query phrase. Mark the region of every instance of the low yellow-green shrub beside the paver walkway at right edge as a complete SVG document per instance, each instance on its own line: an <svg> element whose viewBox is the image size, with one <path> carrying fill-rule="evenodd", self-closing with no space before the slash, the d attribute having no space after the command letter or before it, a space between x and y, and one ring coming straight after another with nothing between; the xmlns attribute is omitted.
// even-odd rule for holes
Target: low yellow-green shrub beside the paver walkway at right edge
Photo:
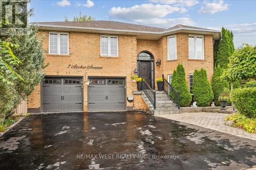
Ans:
<svg viewBox="0 0 256 170"><path fill-rule="evenodd" d="M233 113L225 118L225 120L232 120L233 127L245 129L249 133L256 133L256 119L248 118L240 113Z"/></svg>

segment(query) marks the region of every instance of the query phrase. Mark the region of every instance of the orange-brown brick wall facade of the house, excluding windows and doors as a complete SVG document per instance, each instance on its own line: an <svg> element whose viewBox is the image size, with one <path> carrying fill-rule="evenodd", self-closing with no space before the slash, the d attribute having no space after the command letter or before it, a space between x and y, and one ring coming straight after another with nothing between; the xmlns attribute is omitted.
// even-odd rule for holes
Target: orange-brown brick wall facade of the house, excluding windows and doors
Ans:
<svg viewBox="0 0 256 170"><path fill-rule="evenodd" d="M204 35L204 59L188 59L188 34L177 33L177 59L167 60L167 36L158 40L137 39L131 35L118 36L118 57L100 56L100 36L96 33L69 32L69 55L49 55L49 31L39 31L38 38L45 37L43 48L49 66L44 69L47 76L99 76L99 77L125 77L126 95L134 95L134 102L127 102L127 107L134 109L147 109L146 104L138 94L133 94L137 90L136 83L131 80L131 72L137 67L137 55L141 51L150 52L155 59L161 60L161 65L155 64L155 79L164 74L173 74L173 70L178 63L182 63L187 77L195 69L205 68L208 79L211 80L213 73L213 38L211 35ZM71 69L68 65L94 65L102 69ZM40 85L28 97L28 108L41 107ZM88 111L87 86L83 86L83 111Z"/></svg>

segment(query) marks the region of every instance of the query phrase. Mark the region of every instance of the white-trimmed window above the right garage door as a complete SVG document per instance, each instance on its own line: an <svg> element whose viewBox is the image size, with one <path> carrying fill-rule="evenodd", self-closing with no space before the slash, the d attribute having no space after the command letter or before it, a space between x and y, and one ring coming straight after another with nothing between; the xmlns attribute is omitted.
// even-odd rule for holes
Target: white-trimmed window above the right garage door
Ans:
<svg viewBox="0 0 256 170"><path fill-rule="evenodd" d="M101 56L118 56L118 37L100 36Z"/></svg>

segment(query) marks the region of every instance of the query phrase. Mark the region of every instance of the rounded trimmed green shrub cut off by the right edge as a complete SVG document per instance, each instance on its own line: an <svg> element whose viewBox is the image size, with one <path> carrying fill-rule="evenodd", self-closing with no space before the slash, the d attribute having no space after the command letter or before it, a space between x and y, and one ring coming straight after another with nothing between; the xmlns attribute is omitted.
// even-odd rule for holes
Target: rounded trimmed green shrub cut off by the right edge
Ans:
<svg viewBox="0 0 256 170"><path fill-rule="evenodd" d="M231 102L239 113L256 118L256 87L237 88L231 92Z"/></svg>

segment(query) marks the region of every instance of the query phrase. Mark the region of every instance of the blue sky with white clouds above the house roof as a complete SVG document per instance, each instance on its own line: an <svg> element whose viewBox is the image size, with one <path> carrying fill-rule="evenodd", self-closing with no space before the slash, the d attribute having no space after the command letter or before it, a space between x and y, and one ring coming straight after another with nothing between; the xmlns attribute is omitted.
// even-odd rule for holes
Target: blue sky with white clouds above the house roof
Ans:
<svg viewBox="0 0 256 170"><path fill-rule="evenodd" d="M177 24L234 33L236 48L256 44L256 0L31 0L34 15L30 22L69 20L79 12L96 20L113 20L170 28Z"/></svg>

